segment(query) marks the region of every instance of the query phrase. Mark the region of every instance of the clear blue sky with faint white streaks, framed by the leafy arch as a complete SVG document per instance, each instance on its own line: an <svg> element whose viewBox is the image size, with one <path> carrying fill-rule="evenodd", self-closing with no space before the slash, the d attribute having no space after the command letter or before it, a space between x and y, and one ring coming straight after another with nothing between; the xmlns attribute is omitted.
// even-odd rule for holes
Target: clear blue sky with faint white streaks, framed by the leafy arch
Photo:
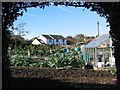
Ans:
<svg viewBox="0 0 120 90"><path fill-rule="evenodd" d="M96 12L81 7L49 6L45 9L29 8L22 17L14 22L17 27L20 23L26 23L25 31L29 31L24 37L32 39L41 34L57 34L75 36L84 34L85 36L96 36L98 34L97 22L99 22L100 35L109 32L106 27L106 19L100 17Z"/></svg>

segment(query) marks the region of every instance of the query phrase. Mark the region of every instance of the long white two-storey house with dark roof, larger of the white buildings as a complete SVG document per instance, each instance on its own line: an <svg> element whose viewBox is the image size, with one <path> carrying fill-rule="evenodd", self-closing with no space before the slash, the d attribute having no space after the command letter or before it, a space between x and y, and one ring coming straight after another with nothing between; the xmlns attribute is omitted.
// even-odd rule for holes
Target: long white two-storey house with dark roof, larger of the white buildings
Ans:
<svg viewBox="0 0 120 90"><path fill-rule="evenodd" d="M38 39L41 39L45 44L49 45L66 45L66 39L62 35L44 35L41 34Z"/></svg>

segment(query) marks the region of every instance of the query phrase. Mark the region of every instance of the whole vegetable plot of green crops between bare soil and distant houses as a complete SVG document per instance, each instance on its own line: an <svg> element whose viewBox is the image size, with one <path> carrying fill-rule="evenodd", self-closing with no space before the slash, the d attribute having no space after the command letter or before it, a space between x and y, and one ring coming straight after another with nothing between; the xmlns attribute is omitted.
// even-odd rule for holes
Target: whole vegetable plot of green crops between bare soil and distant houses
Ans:
<svg viewBox="0 0 120 90"><path fill-rule="evenodd" d="M29 51L30 55L28 55L28 50L24 49L9 50L9 54L12 54L10 55L10 66L51 68L82 68L84 66L84 62L79 57L80 52L64 53L64 50L61 49L50 51L49 49L34 48L29 49ZM47 60L42 57L47 58Z"/></svg>

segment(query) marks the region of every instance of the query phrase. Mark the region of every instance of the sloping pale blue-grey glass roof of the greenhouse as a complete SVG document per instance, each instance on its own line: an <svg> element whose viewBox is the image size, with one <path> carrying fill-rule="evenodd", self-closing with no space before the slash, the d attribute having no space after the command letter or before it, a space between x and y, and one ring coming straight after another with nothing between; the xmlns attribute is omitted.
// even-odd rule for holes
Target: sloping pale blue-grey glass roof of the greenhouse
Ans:
<svg viewBox="0 0 120 90"><path fill-rule="evenodd" d="M109 34L104 34L101 36L98 36L97 38L93 39L90 43L88 43L85 48L96 48L103 42L105 42L110 37Z"/></svg>

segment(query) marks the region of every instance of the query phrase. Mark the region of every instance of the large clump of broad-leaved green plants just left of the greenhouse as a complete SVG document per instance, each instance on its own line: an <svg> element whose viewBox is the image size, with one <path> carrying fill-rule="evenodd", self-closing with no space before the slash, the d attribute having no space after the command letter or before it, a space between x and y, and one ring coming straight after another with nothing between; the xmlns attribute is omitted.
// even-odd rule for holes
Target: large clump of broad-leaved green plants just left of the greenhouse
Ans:
<svg viewBox="0 0 120 90"><path fill-rule="evenodd" d="M84 67L84 62L77 60L75 54L65 54L65 53L55 53L51 56L49 60L50 67L72 67L72 68L81 68Z"/></svg>

